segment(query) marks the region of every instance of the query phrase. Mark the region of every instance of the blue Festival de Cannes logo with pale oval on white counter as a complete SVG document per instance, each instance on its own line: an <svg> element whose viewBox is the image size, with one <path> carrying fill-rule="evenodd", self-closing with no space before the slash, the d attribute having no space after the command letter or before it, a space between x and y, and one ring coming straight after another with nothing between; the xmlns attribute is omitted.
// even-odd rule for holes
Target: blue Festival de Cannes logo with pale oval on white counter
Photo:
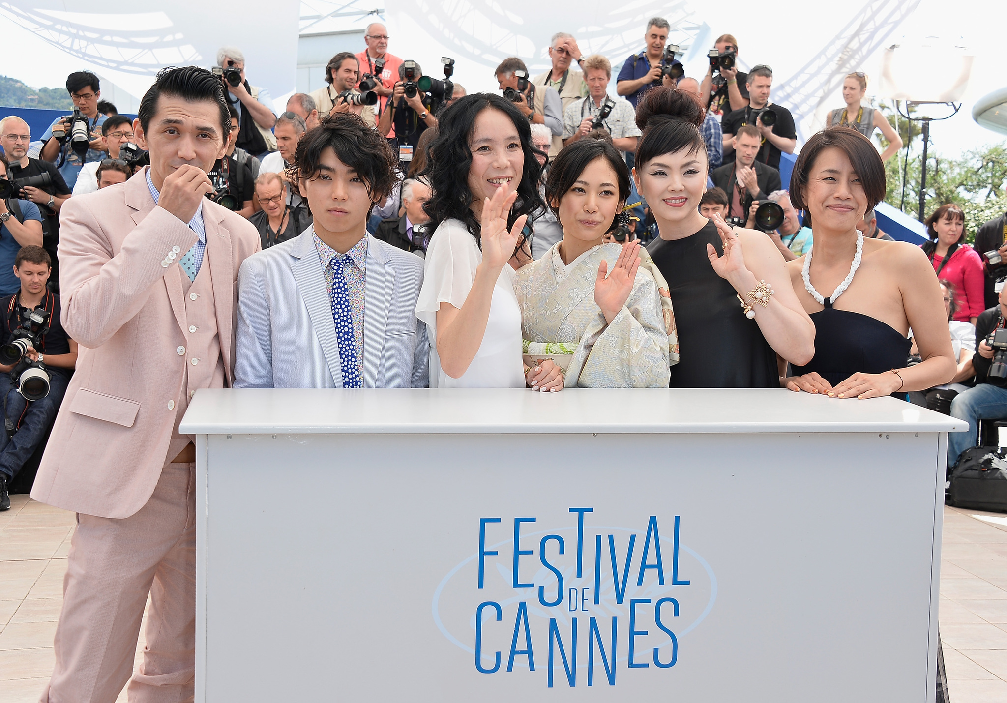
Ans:
<svg viewBox="0 0 1007 703"><path fill-rule="evenodd" d="M440 631L480 674L544 675L548 688L674 667L717 598L713 569L683 541L688 526L679 516L593 525L603 518L593 508L560 516L470 526L475 551L434 593Z"/></svg>

